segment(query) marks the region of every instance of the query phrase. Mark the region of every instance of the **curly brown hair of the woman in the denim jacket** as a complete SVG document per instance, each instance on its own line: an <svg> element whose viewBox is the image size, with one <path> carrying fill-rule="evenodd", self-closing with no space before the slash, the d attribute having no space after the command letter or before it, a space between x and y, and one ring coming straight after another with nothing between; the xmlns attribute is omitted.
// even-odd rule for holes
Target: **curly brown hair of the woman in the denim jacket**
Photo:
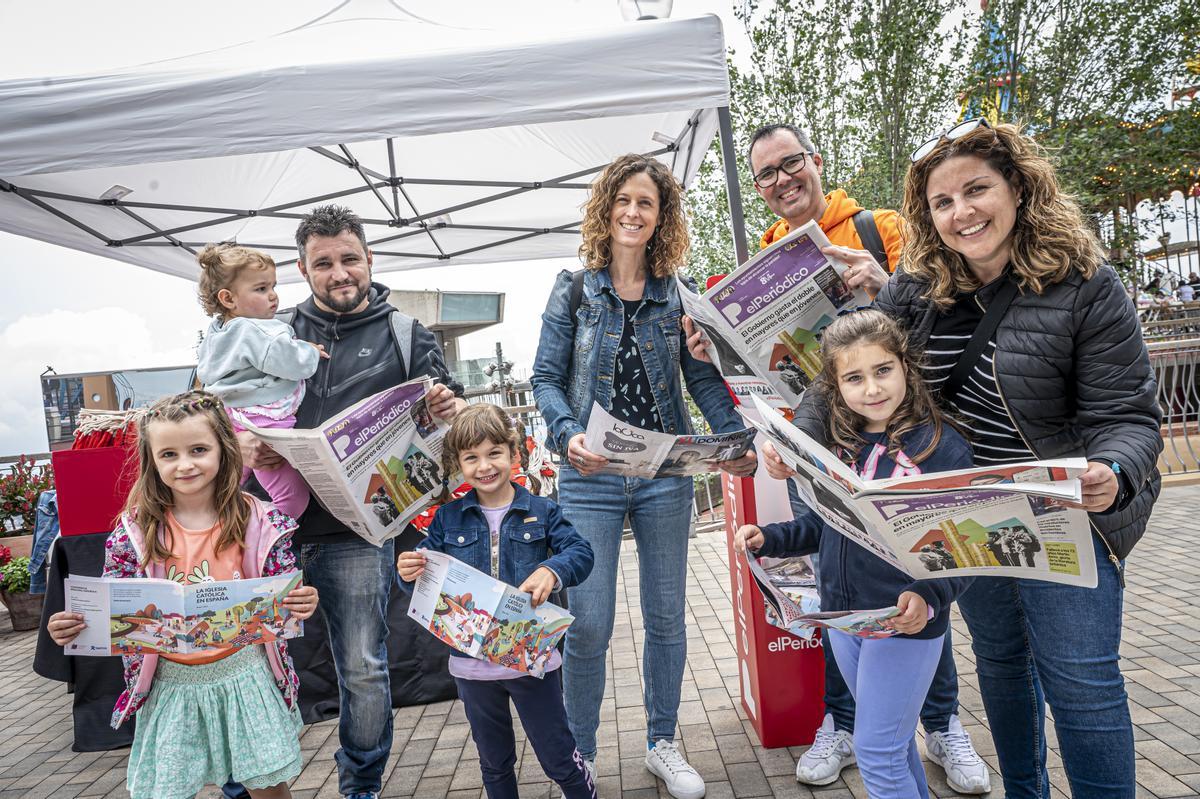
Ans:
<svg viewBox="0 0 1200 799"><path fill-rule="evenodd" d="M647 269L654 277L670 277L688 256L688 221L683 210L683 188L670 169L655 158L623 155L604 168L592 184L592 196L583 206L583 244L580 258L590 270L612 262L610 216L617 193L638 173L649 175L659 187L659 224L646 250Z"/></svg>

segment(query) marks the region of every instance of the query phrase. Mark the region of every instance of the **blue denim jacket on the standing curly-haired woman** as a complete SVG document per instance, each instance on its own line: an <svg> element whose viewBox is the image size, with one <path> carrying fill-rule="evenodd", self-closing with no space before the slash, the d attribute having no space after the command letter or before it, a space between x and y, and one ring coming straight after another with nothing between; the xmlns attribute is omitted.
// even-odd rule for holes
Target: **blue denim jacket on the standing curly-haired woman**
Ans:
<svg viewBox="0 0 1200 799"><path fill-rule="evenodd" d="M689 288L689 278L680 277ZM570 319L571 272L554 281L546 312L541 314L541 341L533 362L533 397L546 420L546 444L566 452L572 435L584 432L593 401L612 409L612 382L617 371L617 347L625 324L620 296L607 269L589 270L583 278L583 298ZM694 432L679 384L679 368L700 411L718 433L745 425L733 410L733 398L712 364L688 353L673 277L646 278L641 307L634 314L634 334L641 344L642 362L650 380L654 404L666 433ZM572 337L574 334L574 337Z"/></svg>

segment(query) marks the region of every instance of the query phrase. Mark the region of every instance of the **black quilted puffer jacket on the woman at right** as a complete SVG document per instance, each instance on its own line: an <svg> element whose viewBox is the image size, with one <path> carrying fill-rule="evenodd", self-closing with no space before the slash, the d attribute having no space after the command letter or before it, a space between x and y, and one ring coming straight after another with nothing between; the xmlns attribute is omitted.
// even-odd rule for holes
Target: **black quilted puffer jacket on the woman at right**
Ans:
<svg viewBox="0 0 1200 799"><path fill-rule="evenodd" d="M986 305L1000 281L980 289ZM892 276L876 307L908 329L923 349L937 308L926 284ZM1106 458L1121 464L1133 488L1120 507L1092 513L1109 551L1124 558L1146 529L1162 480L1158 385L1133 302L1116 272L1091 280L1073 272L1038 295L1022 290L996 330L996 384L1021 437L1039 459ZM811 397L811 400L810 400ZM823 408L809 391L796 423L823 439Z"/></svg>

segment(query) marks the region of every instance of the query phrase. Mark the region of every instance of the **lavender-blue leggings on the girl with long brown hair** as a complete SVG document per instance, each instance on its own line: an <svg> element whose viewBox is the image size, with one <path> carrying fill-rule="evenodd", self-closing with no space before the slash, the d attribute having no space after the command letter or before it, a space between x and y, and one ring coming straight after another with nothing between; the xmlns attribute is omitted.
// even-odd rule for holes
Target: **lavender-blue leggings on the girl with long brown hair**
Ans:
<svg viewBox="0 0 1200 799"><path fill-rule="evenodd" d="M917 716L929 692L940 638L856 638L830 632L854 696L854 757L871 799L929 799L917 750Z"/></svg>

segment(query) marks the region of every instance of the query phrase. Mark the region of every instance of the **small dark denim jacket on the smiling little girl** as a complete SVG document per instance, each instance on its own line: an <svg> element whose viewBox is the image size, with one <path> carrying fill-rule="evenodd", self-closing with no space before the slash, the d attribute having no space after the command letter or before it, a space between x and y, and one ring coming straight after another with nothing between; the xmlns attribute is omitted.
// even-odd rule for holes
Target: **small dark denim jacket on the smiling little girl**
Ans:
<svg viewBox="0 0 1200 799"><path fill-rule="evenodd" d="M592 573L592 545L575 530L558 505L512 483L516 495L500 522L499 579L520 585L538 566L546 566L562 588L582 583ZM445 552L481 572L492 570L492 539L474 489L443 505L433 515L418 549Z"/></svg>

